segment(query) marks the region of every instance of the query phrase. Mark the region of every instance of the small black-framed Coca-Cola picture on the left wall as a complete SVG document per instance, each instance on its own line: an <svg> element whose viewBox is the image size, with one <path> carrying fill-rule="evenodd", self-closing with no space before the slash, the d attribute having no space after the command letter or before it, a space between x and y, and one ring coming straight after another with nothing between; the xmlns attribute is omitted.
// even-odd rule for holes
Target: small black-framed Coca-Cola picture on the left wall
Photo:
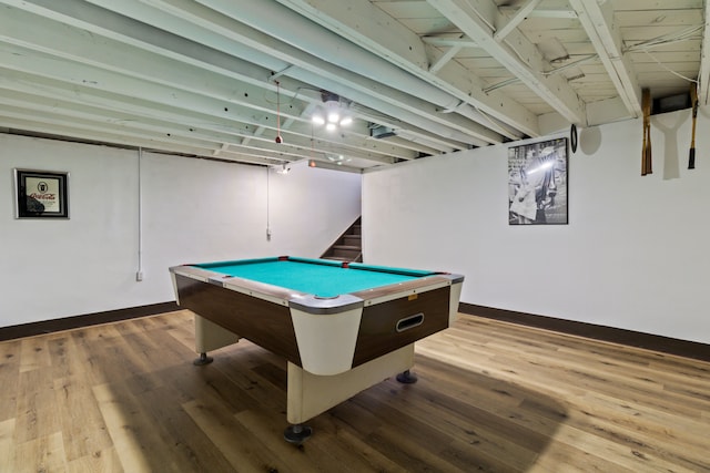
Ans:
<svg viewBox="0 0 710 473"><path fill-rule="evenodd" d="M14 169L16 218L69 218L69 173Z"/></svg>

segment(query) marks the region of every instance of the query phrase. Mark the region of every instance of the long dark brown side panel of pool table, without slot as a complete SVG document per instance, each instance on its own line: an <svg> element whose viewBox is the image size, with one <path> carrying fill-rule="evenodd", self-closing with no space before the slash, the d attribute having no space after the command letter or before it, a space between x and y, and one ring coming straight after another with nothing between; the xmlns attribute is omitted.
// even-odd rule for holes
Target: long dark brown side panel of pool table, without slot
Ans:
<svg viewBox="0 0 710 473"><path fill-rule="evenodd" d="M175 275L180 306L301 366L286 306Z"/></svg>

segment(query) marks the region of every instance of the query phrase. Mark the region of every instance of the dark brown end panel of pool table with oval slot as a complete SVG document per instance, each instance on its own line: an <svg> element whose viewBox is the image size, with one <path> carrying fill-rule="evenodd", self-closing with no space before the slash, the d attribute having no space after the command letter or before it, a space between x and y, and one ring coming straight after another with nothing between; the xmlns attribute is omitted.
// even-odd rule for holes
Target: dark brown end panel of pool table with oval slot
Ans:
<svg viewBox="0 0 710 473"><path fill-rule="evenodd" d="M407 296L384 304L365 307L357 333L353 367L448 327L450 286L420 292L414 300ZM420 326L397 332L397 321L424 313Z"/></svg>

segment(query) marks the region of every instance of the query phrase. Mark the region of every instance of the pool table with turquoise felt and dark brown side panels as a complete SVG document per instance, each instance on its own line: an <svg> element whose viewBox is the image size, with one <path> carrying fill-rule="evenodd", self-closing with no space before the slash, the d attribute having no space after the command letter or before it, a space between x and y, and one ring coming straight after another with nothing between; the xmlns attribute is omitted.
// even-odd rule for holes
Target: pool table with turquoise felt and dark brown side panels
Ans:
<svg viewBox="0 0 710 473"><path fill-rule="evenodd" d="M395 374L414 382L414 342L447 328L464 277L281 256L170 268L178 304L195 313L195 364L240 338L287 360L285 438L303 422Z"/></svg>

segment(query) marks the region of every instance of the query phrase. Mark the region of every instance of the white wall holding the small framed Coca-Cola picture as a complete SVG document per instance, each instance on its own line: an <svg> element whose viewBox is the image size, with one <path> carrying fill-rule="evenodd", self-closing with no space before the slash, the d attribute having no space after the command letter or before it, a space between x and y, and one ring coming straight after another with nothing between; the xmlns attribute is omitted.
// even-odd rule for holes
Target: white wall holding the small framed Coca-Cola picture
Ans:
<svg viewBox="0 0 710 473"><path fill-rule="evenodd" d="M14 167L68 171L70 219L14 219ZM183 263L317 257L357 218L361 176L0 134L0 327L174 300ZM271 240L266 240L268 219Z"/></svg>

